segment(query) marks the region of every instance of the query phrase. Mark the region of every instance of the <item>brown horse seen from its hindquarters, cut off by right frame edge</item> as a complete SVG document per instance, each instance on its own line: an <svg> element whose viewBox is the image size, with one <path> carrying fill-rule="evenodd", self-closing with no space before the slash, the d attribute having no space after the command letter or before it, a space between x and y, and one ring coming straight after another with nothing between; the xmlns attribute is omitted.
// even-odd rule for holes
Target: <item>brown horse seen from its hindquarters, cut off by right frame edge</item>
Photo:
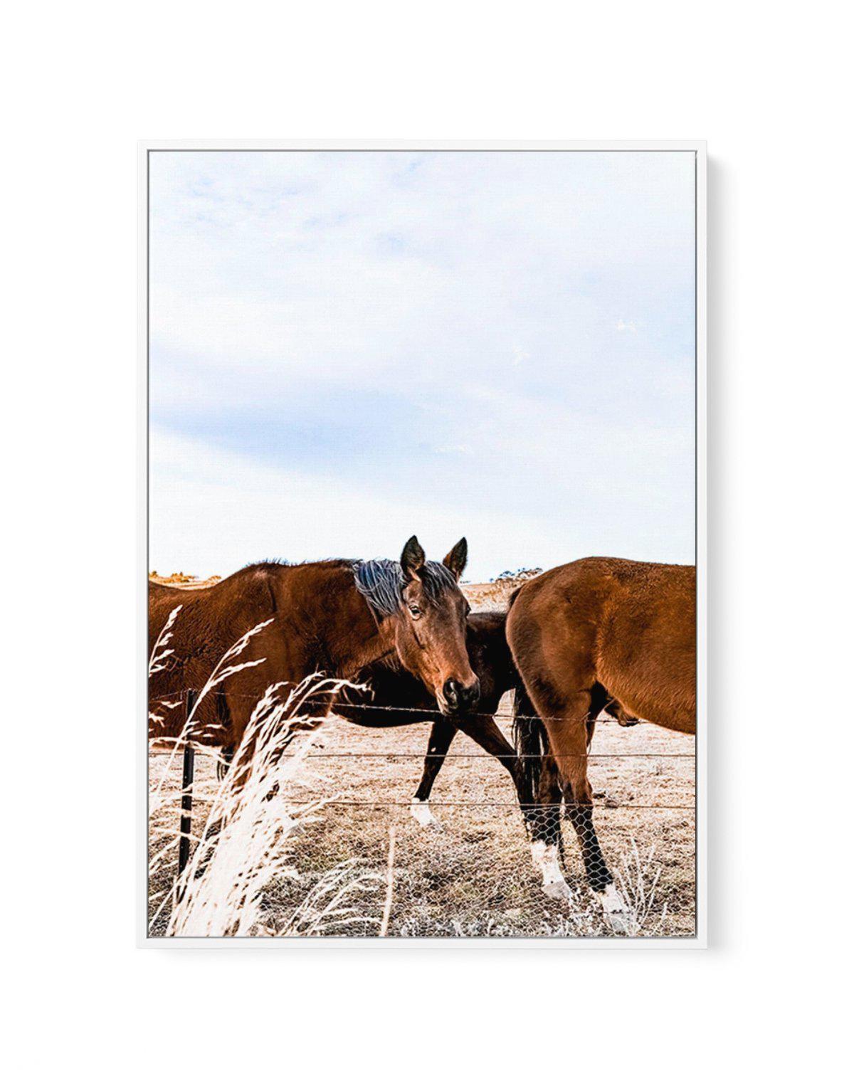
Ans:
<svg viewBox="0 0 854 1076"><path fill-rule="evenodd" d="M696 585L691 566L596 556L511 595L508 641L525 688L516 742L524 798L539 805L529 820L533 862L545 892L571 900L560 869L563 795L587 879L615 926L625 908L593 824L587 751L603 709L621 723L695 732Z"/></svg>

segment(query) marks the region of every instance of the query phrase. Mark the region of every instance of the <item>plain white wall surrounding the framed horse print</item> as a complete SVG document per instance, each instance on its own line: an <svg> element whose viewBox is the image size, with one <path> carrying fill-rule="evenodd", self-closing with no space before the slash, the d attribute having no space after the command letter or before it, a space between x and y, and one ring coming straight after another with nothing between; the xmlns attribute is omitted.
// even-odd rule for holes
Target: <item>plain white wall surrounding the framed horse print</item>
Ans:
<svg viewBox="0 0 854 1076"><path fill-rule="evenodd" d="M155 0L6 30L12 1068L838 1071L841 9ZM709 140L710 951L134 949L134 140L229 136Z"/></svg>

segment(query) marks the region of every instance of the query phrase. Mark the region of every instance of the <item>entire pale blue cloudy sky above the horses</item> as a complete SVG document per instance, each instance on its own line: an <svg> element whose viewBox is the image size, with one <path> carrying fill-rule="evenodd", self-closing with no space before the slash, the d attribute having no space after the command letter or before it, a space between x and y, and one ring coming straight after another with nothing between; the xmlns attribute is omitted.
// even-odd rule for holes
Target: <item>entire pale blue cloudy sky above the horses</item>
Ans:
<svg viewBox="0 0 854 1076"><path fill-rule="evenodd" d="M151 155L150 567L694 563L691 153Z"/></svg>

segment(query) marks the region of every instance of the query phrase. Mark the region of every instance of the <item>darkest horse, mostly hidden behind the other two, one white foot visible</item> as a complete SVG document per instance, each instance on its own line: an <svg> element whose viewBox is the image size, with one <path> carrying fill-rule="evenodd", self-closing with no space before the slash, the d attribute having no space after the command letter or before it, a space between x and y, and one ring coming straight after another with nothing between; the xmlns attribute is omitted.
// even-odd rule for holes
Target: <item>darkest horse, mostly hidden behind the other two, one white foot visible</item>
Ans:
<svg viewBox="0 0 854 1076"><path fill-rule="evenodd" d="M458 732L465 733L493 755L507 769L521 792L522 775L515 751L493 717L501 696L518 688L518 677L504 635L507 614L503 612L475 612L471 613L466 625L469 662L481 685L478 713L447 719L438 713L431 716L425 712L438 709L436 698L425 690L419 680L401 669L393 659L385 659L365 669L360 679L370 685L370 699L353 705L340 702L336 704L337 714L353 724L371 728L432 722L424 771L411 808L419 825L436 823L428 802L430 791Z"/></svg>

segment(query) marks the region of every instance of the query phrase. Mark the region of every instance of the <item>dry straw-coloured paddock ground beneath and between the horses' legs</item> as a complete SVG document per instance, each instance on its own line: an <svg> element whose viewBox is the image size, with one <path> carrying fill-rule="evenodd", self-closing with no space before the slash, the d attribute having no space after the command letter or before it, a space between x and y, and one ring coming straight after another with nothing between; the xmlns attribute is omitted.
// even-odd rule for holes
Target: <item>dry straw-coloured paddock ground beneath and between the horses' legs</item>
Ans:
<svg viewBox="0 0 854 1076"><path fill-rule="evenodd" d="M495 608L510 589L481 584L469 589L469 598L475 608ZM512 739L509 707L508 695L498 721ZM352 861L366 881L352 897L353 921L338 933L375 935L394 834L389 936L612 935L584 880L570 824L565 821L563 830L572 906L542 893L512 782L462 734L433 787L431 809L440 826L417 824L409 802L429 727L371 730L329 720L307 760L304 794L333 799L319 821L297 834L293 877L265 894L269 930L287 921L326 872ZM597 832L621 888L640 909L632 933L641 937L695 933L694 750L694 737L643 723L624 728L613 719L599 722L590 748ZM152 753L152 782L159 780L165 758ZM209 760L197 760L197 766L199 778L213 778ZM177 780L177 768L170 780ZM197 810L194 829L199 825ZM152 891L162 891L173 872L168 860ZM161 917L153 932L162 926Z"/></svg>

